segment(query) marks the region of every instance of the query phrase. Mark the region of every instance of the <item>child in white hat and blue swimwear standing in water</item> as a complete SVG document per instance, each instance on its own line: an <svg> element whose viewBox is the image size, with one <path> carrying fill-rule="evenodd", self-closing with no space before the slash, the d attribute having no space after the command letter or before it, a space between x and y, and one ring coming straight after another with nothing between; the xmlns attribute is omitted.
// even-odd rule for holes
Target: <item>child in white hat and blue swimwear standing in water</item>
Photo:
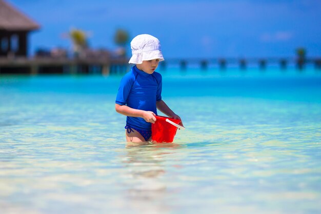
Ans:
<svg viewBox="0 0 321 214"><path fill-rule="evenodd" d="M127 116L126 141L151 140L151 124L155 123L156 109L173 119L180 120L162 100L162 75L155 72L158 63L164 61L160 44L149 34L137 35L130 43L135 64L125 74L116 96L115 109Z"/></svg>

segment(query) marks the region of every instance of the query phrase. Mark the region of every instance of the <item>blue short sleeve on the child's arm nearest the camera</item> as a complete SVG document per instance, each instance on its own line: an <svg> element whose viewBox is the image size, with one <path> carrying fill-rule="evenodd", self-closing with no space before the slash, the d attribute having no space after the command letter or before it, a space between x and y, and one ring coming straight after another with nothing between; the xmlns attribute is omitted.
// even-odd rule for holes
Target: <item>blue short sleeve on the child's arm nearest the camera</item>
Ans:
<svg viewBox="0 0 321 214"><path fill-rule="evenodd" d="M134 78L132 73L126 73L123 77L121 84L119 85L117 96L116 96L116 104L126 105L127 98L134 83Z"/></svg>

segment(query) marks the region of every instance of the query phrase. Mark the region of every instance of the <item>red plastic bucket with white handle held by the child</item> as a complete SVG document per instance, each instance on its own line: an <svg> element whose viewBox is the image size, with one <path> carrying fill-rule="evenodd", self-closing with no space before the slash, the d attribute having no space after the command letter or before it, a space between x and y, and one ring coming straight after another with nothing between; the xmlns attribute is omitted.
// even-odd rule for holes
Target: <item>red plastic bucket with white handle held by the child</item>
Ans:
<svg viewBox="0 0 321 214"><path fill-rule="evenodd" d="M167 118L166 116L155 116L156 122L152 123L152 141L157 143L172 143L177 131L177 127L167 122L170 120L179 124L180 120Z"/></svg>

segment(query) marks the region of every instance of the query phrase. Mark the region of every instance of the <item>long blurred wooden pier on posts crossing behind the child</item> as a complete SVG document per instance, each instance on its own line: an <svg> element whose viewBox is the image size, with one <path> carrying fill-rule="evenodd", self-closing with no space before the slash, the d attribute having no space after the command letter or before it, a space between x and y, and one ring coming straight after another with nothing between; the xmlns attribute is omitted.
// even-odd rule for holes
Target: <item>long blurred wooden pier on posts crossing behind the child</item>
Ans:
<svg viewBox="0 0 321 214"><path fill-rule="evenodd" d="M215 66L220 70L226 70L229 66L246 70L249 66L266 70L269 65L276 65L280 70L286 70L289 65L294 65L298 70L304 70L307 65L313 65L316 70L321 70L321 58L296 60L290 58L260 58L260 59L166 59L159 64L160 70L166 70L168 65L178 65L179 69L186 71L189 65L197 65L201 70L207 70ZM0 74L123 74L129 70L127 58L119 59L68 59L54 57L39 57L27 59L15 57L9 59L0 57Z"/></svg>

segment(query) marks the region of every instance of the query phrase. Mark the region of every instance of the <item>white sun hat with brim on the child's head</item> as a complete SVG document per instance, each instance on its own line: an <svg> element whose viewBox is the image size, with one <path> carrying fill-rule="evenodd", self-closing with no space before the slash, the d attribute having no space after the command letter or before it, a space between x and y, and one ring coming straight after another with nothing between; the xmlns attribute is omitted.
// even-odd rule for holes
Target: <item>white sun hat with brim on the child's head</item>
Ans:
<svg viewBox="0 0 321 214"><path fill-rule="evenodd" d="M158 38L149 35L141 34L133 38L130 43L132 57L128 63L142 64L143 61L159 59L164 61L160 43Z"/></svg>

